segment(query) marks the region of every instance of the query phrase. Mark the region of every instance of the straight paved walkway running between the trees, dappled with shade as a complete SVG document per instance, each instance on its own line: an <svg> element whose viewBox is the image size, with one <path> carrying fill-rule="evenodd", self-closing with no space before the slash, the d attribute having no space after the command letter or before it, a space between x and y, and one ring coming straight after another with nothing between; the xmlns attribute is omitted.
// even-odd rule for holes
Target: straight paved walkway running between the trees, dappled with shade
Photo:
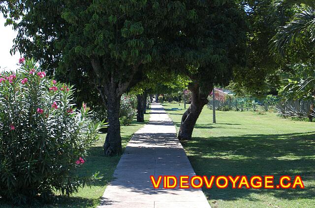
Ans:
<svg viewBox="0 0 315 208"><path fill-rule="evenodd" d="M201 189L154 189L150 176L195 175L163 107L129 141L98 208L210 208Z"/></svg>

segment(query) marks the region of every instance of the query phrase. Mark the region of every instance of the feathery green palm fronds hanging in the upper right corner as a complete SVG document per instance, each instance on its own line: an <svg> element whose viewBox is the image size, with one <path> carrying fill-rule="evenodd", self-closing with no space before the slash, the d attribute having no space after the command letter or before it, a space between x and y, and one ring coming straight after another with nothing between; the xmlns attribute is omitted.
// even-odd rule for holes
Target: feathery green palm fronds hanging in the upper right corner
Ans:
<svg viewBox="0 0 315 208"><path fill-rule="evenodd" d="M315 41L315 0L275 0L274 7L280 13L295 6L293 18L281 26L271 40L270 49L274 54L302 49L308 42Z"/></svg>

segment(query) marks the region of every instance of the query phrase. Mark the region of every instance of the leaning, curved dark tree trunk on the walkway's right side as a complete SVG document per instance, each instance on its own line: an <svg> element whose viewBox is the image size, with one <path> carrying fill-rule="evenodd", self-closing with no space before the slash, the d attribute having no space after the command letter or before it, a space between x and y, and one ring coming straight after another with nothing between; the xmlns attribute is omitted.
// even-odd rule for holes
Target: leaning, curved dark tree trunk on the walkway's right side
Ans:
<svg viewBox="0 0 315 208"><path fill-rule="evenodd" d="M208 95L212 90L212 86L208 87L208 93L201 93L200 87L196 83L190 83L188 86L191 91L191 104L187 111L183 114L181 127L178 132L179 140L190 140L193 128L205 104L208 103Z"/></svg>

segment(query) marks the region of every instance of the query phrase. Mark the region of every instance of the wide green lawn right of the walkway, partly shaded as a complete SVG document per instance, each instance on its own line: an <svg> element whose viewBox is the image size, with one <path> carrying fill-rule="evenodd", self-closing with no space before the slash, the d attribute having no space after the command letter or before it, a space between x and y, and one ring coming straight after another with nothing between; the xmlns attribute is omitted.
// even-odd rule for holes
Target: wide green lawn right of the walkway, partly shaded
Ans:
<svg viewBox="0 0 315 208"><path fill-rule="evenodd" d="M163 104L178 130L183 104ZM182 142L197 175L300 175L305 189L203 189L213 208L314 208L315 123L275 113L217 111L204 107L193 139Z"/></svg>

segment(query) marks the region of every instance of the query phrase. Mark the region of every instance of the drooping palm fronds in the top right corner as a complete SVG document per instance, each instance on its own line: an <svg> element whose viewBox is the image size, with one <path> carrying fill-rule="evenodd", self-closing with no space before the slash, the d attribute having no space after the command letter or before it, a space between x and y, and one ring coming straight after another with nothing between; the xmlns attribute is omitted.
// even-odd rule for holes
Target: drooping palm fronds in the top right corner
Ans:
<svg viewBox="0 0 315 208"><path fill-rule="evenodd" d="M314 53L315 2L313 0L274 0L274 10L286 16L271 41L278 61L306 61Z"/></svg>

